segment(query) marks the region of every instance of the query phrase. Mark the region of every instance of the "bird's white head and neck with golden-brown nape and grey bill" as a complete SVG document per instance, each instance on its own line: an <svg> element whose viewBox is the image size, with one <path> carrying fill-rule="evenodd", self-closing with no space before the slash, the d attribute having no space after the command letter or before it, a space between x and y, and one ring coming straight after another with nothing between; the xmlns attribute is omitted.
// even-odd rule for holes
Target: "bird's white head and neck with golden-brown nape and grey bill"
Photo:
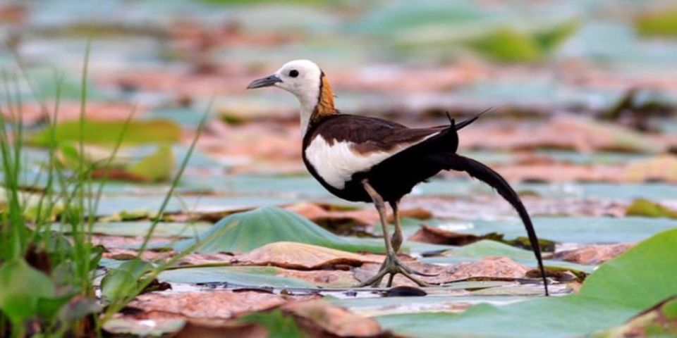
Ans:
<svg viewBox="0 0 677 338"><path fill-rule="evenodd" d="M273 75L252 81L247 89L262 87L279 87L294 94L301 104L301 132L305 134L313 113L322 114L334 110L334 94L331 93L329 82L319 67L310 60L294 60L285 63ZM325 97L329 96L329 97ZM324 105L324 106L323 106ZM317 109L321 108L321 109Z"/></svg>

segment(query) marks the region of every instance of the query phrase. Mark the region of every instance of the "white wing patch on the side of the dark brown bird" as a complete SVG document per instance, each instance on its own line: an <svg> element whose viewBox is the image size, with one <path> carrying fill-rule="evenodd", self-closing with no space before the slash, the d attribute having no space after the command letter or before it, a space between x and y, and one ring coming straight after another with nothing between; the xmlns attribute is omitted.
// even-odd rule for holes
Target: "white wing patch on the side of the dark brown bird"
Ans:
<svg viewBox="0 0 677 338"><path fill-rule="evenodd" d="M428 135L417 142L399 144L389 151L374 151L369 154L360 154L353 149L353 142L333 142L329 144L322 135L317 135L305 149L305 157L315 168L317 174L331 187L343 189L346 182L350 181L353 174L367 171L374 165L381 163L400 151L437 133Z"/></svg>

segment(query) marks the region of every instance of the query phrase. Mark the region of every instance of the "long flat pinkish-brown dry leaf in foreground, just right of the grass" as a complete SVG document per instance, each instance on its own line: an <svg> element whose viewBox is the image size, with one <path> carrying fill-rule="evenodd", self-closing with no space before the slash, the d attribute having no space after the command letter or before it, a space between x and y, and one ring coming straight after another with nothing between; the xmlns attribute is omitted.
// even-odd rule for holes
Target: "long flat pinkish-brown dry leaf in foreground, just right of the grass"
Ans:
<svg viewBox="0 0 677 338"><path fill-rule="evenodd" d="M144 318L154 316L166 318L178 316L184 318L228 319L242 313L262 311L280 306L292 300L307 300L317 296L281 296L267 292L181 292L164 294L152 292L142 294L128 306L145 311Z"/></svg>

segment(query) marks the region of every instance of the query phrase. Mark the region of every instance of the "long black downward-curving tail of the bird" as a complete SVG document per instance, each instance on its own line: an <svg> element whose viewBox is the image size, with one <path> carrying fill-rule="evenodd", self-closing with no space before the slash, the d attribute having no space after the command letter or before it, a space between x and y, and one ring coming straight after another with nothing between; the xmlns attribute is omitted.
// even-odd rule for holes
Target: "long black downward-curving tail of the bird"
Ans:
<svg viewBox="0 0 677 338"><path fill-rule="evenodd" d="M508 203L510 203L513 208L517 211L524 223L524 227L527 230L529 235L529 243L531 244L532 249L534 250L534 255L538 261L538 268L541 271L541 276L543 278L543 287L545 288L546 296L549 295L548 292L548 283L545 275L545 269L543 268L543 260L541 258L541 247L538 244L538 237L536 236L536 231L534 230L534 225L531 223L531 218L527 209L522 204L520 196L513 190L513 188L506 182L506 180L496 173L492 168L487 167L480 162L473 160L472 158L467 158L458 154L435 154L432 155L446 170L456 170L456 171L465 171L468 175L477 178L484 183L489 184L496 192L503 196Z"/></svg>

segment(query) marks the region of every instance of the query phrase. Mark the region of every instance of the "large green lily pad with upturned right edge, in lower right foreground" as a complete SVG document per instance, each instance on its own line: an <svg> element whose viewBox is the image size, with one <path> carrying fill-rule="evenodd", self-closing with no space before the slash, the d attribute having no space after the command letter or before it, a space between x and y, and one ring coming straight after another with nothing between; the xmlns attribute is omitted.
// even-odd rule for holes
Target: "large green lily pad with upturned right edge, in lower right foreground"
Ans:
<svg viewBox="0 0 677 338"><path fill-rule="evenodd" d="M677 294L677 229L638 244L585 280L578 294L481 304L460 315L418 313L379 318L384 327L412 337L572 337L621 325ZM650 287L649 287L650 286ZM527 318L527 320L525 320ZM516 325L519 323L519 325Z"/></svg>

